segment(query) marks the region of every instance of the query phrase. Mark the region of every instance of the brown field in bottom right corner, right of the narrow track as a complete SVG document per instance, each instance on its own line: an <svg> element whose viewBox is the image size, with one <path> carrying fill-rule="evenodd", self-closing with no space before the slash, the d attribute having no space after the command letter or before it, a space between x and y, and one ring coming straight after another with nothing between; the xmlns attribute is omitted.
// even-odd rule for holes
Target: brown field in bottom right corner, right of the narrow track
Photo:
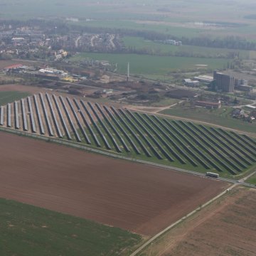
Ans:
<svg viewBox="0 0 256 256"><path fill-rule="evenodd" d="M156 240L141 255L255 255L255 189L235 188Z"/></svg>

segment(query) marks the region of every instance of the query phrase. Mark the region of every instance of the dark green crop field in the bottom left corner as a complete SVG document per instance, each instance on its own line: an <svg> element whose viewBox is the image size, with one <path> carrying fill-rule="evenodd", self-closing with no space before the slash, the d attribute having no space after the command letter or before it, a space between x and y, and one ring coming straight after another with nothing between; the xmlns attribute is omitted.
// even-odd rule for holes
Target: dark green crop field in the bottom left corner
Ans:
<svg viewBox="0 0 256 256"><path fill-rule="evenodd" d="M0 255L127 255L140 235L0 198Z"/></svg>

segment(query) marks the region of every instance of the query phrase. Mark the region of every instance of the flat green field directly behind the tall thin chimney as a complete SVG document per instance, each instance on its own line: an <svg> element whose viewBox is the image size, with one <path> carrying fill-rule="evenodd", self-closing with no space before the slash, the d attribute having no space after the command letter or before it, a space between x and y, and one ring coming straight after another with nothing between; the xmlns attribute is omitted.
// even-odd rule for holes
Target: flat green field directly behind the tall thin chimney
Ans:
<svg viewBox="0 0 256 256"><path fill-rule="evenodd" d="M153 56L136 54L111 54L111 53L80 53L70 60L109 60L110 63L117 63L117 72L127 72L127 62L129 62L130 73L139 74L165 74L173 70L183 70L186 68L197 68L196 65L208 65L207 68L218 69L227 65L228 60L222 58L186 58L173 56Z"/></svg>

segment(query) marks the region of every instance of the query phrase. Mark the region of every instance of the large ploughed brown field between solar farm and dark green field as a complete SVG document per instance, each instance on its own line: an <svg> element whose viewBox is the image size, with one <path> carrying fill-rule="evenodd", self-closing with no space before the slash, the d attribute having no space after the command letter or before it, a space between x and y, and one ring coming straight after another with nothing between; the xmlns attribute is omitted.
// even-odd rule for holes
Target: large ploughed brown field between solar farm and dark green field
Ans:
<svg viewBox="0 0 256 256"><path fill-rule="evenodd" d="M227 183L0 132L0 197L154 235Z"/></svg>

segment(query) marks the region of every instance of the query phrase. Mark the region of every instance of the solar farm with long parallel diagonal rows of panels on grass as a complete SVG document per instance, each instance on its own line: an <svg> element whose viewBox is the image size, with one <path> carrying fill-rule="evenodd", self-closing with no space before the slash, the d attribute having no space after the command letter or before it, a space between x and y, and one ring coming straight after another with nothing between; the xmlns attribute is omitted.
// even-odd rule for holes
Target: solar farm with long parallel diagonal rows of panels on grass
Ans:
<svg viewBox="0 0 256 256"><path fill-rule="evenodd" d="M3 106L0 113L4 127L134 159L204 174L218 172L226 178L239 178L255 168L254 139L202 124L41 93Z"/></svg>

